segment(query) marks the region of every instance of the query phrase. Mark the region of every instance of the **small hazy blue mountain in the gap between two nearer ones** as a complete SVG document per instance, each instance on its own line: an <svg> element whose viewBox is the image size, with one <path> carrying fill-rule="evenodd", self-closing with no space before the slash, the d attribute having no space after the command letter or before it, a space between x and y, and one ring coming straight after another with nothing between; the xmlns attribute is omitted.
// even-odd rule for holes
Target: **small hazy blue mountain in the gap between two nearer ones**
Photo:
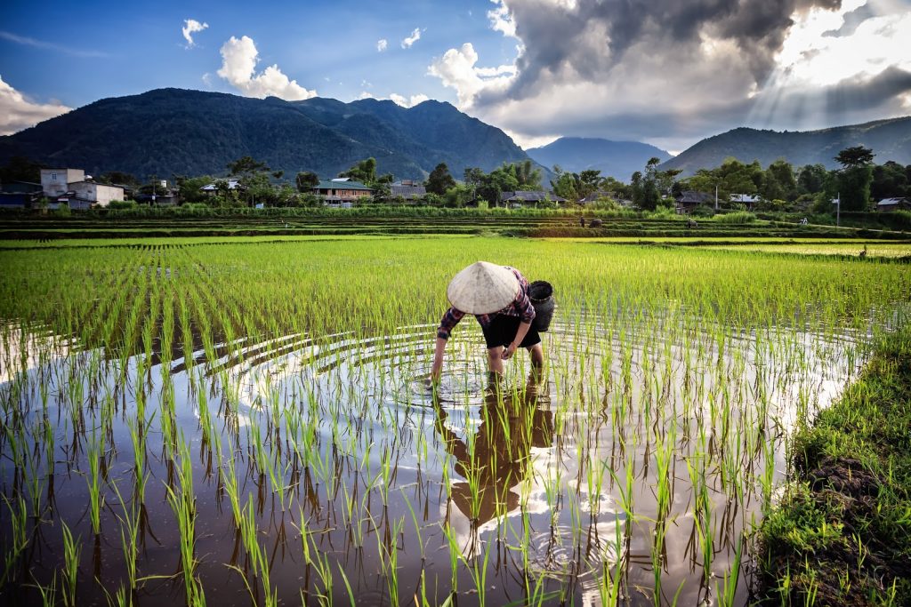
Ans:
<svg viewBox="0 0 911 607"><path fill-rule="evenodd" d="M586 137L560 137L547 146L534 147L526 152L548 168L559 165L571 173L597 168L603 177L621 181L629 181L630 176L643 170L652 157L662 161L670 158L668 152L649 144Z"/></svg>

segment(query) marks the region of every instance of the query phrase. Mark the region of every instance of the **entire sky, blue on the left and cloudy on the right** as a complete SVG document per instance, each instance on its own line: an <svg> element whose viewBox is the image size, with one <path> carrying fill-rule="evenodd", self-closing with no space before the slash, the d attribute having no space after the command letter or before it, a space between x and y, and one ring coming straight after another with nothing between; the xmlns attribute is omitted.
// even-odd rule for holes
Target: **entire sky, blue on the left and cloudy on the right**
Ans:
<svg viewBox="0 0 911 607"><path fill-rule="evenodd" d="M677 153L737 126L911 115L911 0L0 5L0 135L110 96L447 101L521 147Z"/></svg>

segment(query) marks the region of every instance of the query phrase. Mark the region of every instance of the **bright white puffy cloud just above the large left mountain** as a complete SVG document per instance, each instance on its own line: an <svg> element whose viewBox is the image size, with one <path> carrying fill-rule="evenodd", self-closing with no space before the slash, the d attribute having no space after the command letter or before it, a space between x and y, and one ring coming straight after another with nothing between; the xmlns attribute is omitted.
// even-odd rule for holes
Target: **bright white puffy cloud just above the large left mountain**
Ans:
<svg viewBox="0 0 911 607"><path fill-rule="evenodd" d="M316 96L316 91L309 91L290 80L281 73L279 66L266 67L256 74L259 51L250 36L244 35L230 40L221 46L221 68L218 75L227 80L243 93L244 96L264 98L277 96L287 101L309 99Z"/></svg>

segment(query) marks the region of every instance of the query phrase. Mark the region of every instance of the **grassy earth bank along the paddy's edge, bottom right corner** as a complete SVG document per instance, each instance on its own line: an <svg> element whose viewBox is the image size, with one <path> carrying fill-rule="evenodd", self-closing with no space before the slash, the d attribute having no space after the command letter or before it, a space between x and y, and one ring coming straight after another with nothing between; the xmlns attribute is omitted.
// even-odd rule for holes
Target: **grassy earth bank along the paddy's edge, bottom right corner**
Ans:
<svg viewBox="0 0 911 607"><path fill-rule="evenodd" d="M797 432L760 532L764 604L911 604L911 326Z"/></svg>

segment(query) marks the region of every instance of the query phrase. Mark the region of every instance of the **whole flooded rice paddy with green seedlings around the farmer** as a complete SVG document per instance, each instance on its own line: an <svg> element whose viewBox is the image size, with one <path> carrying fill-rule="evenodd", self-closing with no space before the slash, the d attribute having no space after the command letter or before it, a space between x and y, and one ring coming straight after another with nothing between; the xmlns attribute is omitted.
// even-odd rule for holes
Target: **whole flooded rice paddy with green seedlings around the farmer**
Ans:
<svg viewBox="0 0 911 607"><path fill-rule="evenodd" d="M509 238L0 252L10 604L749 602L789 436L911 267ZM555 288L536 376L445 285Z"/></svg>

